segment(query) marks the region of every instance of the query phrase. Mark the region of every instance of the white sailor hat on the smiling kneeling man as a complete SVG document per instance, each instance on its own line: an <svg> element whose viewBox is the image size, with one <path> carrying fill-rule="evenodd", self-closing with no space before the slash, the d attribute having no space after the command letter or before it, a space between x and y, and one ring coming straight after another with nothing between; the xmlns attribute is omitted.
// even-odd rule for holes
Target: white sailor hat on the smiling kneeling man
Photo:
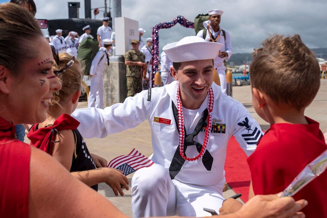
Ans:
<svg viewBox="0 0 327 218"><path fill-rule="evenodd" d="M168 58L175 63L215 59L223 45L207 42L198 36L186 36L179 42L170 43L163 47Z"/></svg>

